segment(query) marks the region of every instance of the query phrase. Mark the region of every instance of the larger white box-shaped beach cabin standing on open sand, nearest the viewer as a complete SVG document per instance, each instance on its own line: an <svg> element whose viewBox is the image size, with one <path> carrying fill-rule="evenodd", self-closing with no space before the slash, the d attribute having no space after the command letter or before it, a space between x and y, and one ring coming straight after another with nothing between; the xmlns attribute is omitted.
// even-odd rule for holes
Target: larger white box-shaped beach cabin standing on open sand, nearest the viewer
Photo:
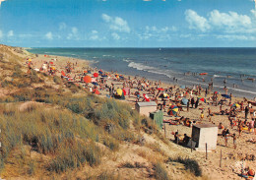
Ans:
<svg viewBox="0 0 256 180"><path fill-rule="evenodd" d="M192 128L192 141L196 150L216 150L218 126L214 124L197 124Z"/></svg>

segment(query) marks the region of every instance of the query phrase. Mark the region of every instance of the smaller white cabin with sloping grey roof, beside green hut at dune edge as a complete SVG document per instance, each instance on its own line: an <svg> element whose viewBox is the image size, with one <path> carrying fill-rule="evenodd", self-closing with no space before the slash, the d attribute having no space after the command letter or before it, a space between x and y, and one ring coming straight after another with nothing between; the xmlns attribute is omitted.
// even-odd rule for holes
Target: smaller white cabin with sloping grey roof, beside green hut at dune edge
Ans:
<svg viewBox="0 0 256 180"><path fill-rule="evenodd" d="M147 117L150 116L150 112L156 111L158 108L158 104L154 101L152 102L137 102L135 104L135 109L140 113L144 114Z"/></svg>

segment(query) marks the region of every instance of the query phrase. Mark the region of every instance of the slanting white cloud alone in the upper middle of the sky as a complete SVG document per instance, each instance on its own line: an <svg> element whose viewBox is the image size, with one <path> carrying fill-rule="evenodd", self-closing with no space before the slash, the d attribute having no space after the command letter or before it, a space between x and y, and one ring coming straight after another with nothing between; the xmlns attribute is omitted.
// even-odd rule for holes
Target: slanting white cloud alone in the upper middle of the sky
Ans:
<svg viewBox="0 0 256 180"><path fill-rule="evenodd" d="M110 30L116 30L120 32L130 32L128 23L120 17L110 17L106 14L102 14L102 20L109 24Z"/></svg>

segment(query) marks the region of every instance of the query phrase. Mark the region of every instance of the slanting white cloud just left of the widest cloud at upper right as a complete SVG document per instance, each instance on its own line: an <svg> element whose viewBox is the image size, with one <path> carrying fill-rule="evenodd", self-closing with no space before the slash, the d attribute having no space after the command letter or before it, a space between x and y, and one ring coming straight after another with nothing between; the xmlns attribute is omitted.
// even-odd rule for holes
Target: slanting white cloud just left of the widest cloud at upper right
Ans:
<svg viewBox="0 0 256 180"><path fill-rule="evenodd" d="M186 21L189 23L189 29L201 30L201 31L206 31L211 29L211 26L207 22L207 19L199 16L195 11L190 9L186 10L185 16L186 16Z"/></svg>

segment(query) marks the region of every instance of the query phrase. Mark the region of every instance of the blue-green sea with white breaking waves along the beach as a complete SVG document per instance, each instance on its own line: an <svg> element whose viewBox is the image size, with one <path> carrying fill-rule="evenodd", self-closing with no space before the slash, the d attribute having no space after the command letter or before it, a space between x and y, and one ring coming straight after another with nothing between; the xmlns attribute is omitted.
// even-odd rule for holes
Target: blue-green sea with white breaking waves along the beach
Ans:
<svg viewBox="0 0 256 180"><path fill-rule="evenodd" d="M214 90L256 96L256 48L31 48L32 53L68 56L92 67L176 86L213 82ZM207 75L200 75L207 73ZM225 83L224 83L225 82Z"/></svg>

